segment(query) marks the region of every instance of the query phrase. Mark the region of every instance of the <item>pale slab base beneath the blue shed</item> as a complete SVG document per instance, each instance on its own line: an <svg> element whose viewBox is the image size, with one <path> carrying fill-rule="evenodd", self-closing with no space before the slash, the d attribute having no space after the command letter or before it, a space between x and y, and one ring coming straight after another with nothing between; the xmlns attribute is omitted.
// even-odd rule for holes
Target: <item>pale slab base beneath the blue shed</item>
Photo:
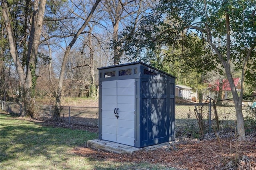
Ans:
<svg viewBox="0 0 256 170"><path fill-rule="evenodd" d="M94 148L94 149L100 149L100 150L107 150L110 152L116 152L116 153L128 153L132 154L138 150L145 149L145 150L155 150L158 148L168 148L170 144L177 142L177 141L171 141L171 142L165 142L161 144L156 144L153 146L147 146L144 148L136 148L134 146L128 146L125 144L120 144L116 142L110 142L106 140L100 140L100 139L94 139L94 140L88 140L86 143L87 148Z"/></svg>

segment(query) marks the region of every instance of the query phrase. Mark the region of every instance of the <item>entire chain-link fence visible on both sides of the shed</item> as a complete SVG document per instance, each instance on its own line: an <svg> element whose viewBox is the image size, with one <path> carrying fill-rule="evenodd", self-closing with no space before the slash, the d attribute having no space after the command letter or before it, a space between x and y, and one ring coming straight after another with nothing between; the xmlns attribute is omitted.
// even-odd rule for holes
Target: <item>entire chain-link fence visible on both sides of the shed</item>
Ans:
<svg viewBox="0 0 256 170"><path fill-rule="evenodd" d="M246 132L256 130L256 96L245 98L242 103ZM255 105L254 105L255 104ZM38 106L36 117L54 119L54 106ZM1 109L13 116L20 116L22 105L1 101ZM72 125L98 127L98 107L62 106L60 120ZM175 129L178 138L203 138L212 132L234 132L236 110L233 99L205 103L176 104Z"/></svg>

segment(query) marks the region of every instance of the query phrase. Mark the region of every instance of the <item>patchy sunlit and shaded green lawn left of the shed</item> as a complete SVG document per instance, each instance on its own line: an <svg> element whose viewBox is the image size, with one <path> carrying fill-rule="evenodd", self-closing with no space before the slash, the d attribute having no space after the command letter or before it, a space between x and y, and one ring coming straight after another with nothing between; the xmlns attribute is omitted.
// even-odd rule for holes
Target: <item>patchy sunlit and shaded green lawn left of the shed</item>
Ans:
<svg viewBox="0 0 256 170"><path fill-rule="evenodd" d="M87 140L98 138L97 135L85 130L44 127L0 114L0 169L166 169L161 164L102 161L72 152L77 146L85 146Z"/></svg>

